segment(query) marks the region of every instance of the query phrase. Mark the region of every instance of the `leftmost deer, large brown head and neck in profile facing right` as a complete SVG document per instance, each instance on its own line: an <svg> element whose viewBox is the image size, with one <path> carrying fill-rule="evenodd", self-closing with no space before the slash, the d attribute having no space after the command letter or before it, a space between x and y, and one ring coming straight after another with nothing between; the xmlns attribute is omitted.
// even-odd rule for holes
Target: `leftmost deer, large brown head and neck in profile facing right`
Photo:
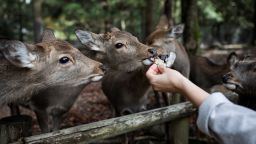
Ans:
<svg viewBox="0 0 256 144"><path fill-rule="evenodd" d="M0 40L0 50L0 104L26 104L36 112L39 123L45 115L38 111L44 109L58 115L56 109L66 111L74 101L66 100L70 96L56 95L79 93L85 84L103 77L101 63L84 56L66 41L57 40L50 29L36 44Z"/></svg>

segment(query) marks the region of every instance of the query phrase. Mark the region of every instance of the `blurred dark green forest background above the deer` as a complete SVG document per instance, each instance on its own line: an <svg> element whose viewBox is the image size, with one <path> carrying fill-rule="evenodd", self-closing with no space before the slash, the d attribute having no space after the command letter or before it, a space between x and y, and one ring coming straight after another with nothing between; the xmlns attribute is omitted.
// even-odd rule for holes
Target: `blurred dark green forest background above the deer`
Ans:
<svg viewBox="0 0 256 144"><path fill-rule="evenodd" d="M183 42L192 52L230 44L254 45L255 0L1 0L0 36L37 42L44 28L76 41L74 30L95 33L116 26L141 41L166 14L185 23Z"/></svg>

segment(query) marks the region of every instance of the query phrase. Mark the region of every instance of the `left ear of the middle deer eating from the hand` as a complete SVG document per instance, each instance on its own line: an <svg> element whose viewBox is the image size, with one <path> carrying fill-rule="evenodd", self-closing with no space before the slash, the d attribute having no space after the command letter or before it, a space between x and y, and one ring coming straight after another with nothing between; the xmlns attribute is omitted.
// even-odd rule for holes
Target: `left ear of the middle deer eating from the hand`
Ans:
<svg viewBox="0 0 256 144"><path fill-rule="evenodd" d="M105 47L101 41L103 37L85 30L76 30L75 34L80 42L89 50L105 53Z"/></svg>

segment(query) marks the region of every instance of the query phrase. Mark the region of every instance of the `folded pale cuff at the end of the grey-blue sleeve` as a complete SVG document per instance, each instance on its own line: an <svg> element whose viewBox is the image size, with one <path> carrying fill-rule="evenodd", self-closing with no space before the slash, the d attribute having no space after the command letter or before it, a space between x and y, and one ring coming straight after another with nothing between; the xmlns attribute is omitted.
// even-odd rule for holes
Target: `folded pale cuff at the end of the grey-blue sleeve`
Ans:
<svg viewBox="0 0 256 144"><path fill-rule="evenodd" d="M199 114L197 118L198 128L205 134L211 136L209 130L209 120L213 110L220 104L231 103L222 93L216 92L209 95L205 101L199 106Z"/></svg>

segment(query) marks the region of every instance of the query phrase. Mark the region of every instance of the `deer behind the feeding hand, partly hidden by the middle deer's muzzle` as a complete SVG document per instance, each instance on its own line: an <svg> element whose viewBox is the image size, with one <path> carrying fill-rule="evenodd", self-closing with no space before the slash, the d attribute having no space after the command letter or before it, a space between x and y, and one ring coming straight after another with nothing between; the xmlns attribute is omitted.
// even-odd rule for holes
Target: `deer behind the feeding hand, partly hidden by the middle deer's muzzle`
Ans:
<svg viewBox="0 0 256 144"><path fill-rule="evenodd" d="M161 16L156 30L146 38L146 44L155 47L163 48L168 52L176 54L176 60L172 66L173 69L181 72L186 77L189 77L190 62L185 48L177 41L184 30L184 25L171 26L166 16Z"/></svg>

